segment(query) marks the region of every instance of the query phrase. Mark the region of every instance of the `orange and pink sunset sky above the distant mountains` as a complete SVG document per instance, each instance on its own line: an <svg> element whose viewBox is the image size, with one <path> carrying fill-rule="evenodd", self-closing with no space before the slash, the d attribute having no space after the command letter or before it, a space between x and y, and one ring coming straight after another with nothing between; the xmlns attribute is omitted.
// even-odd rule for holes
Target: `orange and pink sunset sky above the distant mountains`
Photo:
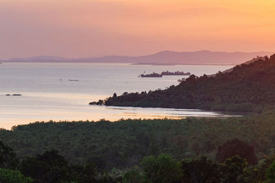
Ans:
<svg viewBox="0 0 275 183"><path fill-rule="evenodd" d="M0 58L274 51L274 0L0 0Z"/></svg>

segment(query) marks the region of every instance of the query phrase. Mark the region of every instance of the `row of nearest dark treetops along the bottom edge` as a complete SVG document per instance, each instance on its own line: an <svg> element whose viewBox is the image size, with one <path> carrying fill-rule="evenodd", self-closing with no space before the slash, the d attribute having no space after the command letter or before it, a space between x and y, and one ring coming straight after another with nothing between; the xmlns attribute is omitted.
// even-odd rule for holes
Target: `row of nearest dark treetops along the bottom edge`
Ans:
<svg viewBox="0 0 275 183"><path fill-rule="evenodd" d="M10 173L3 173L0 178L10 182L20 182L21 179L32 181L24 176L31 177L34 182L272 182L274 157L267 157L252 167L239 156L228 158L222 163L214 162L207 156L179 162L173 156L160 154L145 156L140 162L141 167L133 166L125 172L115 168L98 171L91 160L83 161L83 164L68 164L58 151L51 150L24 158L16 164L23 174L8 170Z"/></svg>

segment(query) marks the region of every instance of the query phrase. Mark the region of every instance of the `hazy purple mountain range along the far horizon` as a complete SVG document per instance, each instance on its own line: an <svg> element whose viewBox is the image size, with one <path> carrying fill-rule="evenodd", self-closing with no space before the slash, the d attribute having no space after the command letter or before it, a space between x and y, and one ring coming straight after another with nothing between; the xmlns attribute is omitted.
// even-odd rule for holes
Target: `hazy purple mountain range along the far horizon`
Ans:
<svg viewBox="0 0 275 183"><path fill-rule="evenodd" d="M1 62L85 62L85 63L131 63L153 65L175 64L241 64L257 56L270 56L272 52L220 52L220 51L161 51L146 56L104 56L98 58L61 58L36 56L32 58L12 58Z"/></svg>

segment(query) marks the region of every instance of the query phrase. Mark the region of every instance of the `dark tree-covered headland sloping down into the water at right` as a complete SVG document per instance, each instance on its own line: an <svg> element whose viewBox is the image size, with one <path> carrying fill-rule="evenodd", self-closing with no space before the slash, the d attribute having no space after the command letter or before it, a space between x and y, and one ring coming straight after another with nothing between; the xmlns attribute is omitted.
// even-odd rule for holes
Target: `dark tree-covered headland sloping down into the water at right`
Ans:
<svg viewBox="0 0 275 183"><path fill-rule="evenodd" d="M100 104L216 111L262 112L273 109L275 55L235 66L231 72L219 72L212 77L190 75L178 86L166 90L114 94Z"/></svg>

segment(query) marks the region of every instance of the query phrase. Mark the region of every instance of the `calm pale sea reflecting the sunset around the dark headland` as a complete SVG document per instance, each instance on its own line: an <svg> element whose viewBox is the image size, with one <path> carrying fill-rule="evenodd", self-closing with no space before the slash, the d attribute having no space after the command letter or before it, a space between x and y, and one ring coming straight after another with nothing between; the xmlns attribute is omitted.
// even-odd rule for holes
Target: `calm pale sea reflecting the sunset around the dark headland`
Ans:
<svg viewBox="0 0 275 183"><path fill-rule="evenodd" d="M232 66L145 66L131 64L2 63L0 127L34 121L78 121L121 118L227 117L219 112L163 108L89 106L117 93L141 92L177 85L183 76L137 77L141 73L185 71L203 75ZM21 94L22 96L5 96Z"/></svg>

